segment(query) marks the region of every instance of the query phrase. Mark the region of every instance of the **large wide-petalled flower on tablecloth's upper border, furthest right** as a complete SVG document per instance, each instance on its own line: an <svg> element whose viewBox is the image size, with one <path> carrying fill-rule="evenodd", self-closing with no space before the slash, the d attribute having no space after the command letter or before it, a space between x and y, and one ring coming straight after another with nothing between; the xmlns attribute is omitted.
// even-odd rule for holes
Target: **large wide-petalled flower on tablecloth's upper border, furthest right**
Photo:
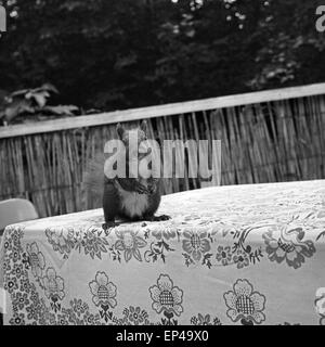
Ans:
<svg viewBox="0 0 325 347"><path fill-rule="evenodd" d="M284 260L289 267L298 269L316 252L312 241L302 241L304 232L302 228L290 228L289 226L275 227L263 234L266 244L266 253L271 261L278 264Z"/></svg>

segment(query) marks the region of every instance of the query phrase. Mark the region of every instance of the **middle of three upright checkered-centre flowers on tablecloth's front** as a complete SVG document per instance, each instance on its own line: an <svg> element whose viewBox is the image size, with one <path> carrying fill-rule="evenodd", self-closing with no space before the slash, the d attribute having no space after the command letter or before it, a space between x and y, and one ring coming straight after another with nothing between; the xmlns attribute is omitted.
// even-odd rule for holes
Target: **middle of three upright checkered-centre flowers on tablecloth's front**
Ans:
<svg viewBox="0 0 325 347"><path fill-rule="evenodd" d="M157 285L150 287L153 299L153 309L159 314L162 311L180 316L183 312L183 291L173 286L173 282L168 274L160 274Z"/></svg>

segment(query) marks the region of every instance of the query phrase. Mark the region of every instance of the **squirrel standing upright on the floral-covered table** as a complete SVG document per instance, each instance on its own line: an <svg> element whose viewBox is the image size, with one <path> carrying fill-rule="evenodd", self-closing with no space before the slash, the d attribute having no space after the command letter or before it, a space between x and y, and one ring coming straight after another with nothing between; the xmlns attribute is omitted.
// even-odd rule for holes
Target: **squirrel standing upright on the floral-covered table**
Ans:
<svg viewBox="0 0 325 347"><path fill-rule="evenodd" d="M103 228L109 229L117 226L116 219L126 221L164 221L170 219L169 216L155 216L161 201L161 180L154 178L152 175L148 178L130 177L130 163L133 159L139 159L141 153L139 147L147 140L147 125L142 121L141 126L135 129L126 130L120 124L116 127L118 139L126 147L126 177L108 178L104 175L103 192L103 210L105 223ZM130 133L136 132L138 147L130 151ZM131 144L133 145L133 144ZM117 152L117 157L119 156ZM109 159L108 159L109 160ZM103 169L103 167L102 167ZM103 172L103 171L102 171ZM91 180L94 175L90 175L86 179L86 185L92 185ZM90 180L90 181L89 181Z"/></svg>

